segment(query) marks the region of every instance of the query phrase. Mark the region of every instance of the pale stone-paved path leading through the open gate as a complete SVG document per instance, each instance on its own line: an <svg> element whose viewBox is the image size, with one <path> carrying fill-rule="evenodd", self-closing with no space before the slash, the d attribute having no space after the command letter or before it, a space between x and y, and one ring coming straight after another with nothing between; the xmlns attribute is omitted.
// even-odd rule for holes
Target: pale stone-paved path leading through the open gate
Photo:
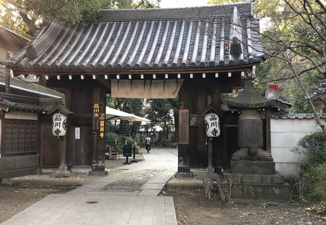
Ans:
<svg viewBox="0 0 326 225"><path fill-rule="evenodd" d="M177 224L173 197L157 196L177 171L177 149L143 153L145 161L90 177L66 194L50 194L2 224Z"/></svg>

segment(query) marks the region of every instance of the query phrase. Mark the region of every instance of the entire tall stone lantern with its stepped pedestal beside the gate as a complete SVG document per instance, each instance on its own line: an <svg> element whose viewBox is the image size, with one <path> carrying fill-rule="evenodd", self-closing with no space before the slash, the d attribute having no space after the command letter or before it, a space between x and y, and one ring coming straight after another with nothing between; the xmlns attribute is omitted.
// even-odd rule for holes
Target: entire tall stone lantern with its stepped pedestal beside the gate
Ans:
<svg viewBox="0 0 326 225"><path fill-rule="evenodd" d="M287 200L289 185L275 173L272 155L263 150L263 121L259 110L271 107L274 99L263 97L253 84L251 71L246 73L243 90L228 101L230 109L241 111L238 120L239 150L231 156L234 198Z"/></svg>

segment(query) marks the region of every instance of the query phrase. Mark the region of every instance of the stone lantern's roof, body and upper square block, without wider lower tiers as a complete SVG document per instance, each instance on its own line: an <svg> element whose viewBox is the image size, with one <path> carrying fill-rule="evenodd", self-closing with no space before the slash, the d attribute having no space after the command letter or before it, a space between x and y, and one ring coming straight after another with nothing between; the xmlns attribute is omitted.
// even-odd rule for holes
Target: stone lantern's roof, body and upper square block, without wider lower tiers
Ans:
<svg viewBox="0 0 326 225"><path fill-rule="evenodd" d="M231 157L232 173L271 174L275 172L272 156L263 147L263 121L259 109L271 107L274 99L263 97L253 85L251 71L239 95L228 101L230 109L241 111L238 120L238 145L240 147ZM242 161L242 162L239 162ZM270 162L259 163L257 161ZM253 164L253 162L256 162ZM257 165L264 168L257 168ZM259 166L260 167L260 166Z"/></svg>

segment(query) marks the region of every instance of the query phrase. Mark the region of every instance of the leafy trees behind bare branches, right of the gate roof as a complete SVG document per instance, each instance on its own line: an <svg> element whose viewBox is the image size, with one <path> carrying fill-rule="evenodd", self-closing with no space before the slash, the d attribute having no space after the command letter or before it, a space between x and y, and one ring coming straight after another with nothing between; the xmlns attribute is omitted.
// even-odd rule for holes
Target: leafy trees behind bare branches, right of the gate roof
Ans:
<svg viewBox="0 0 326 225"><path fill-rule="evenodd" d="M267 82L281 81L285 84L282 93L292 98L292 110L303 111L309 106L309 111L315 114L318 125L326 135L326 127L316 116L319 108L310 98L310 93L326 77L324 1L258 0L255 1L255 10L256 15L268 20L263 31L257 30L261 34L264 53L268 57L257 70L262 72L257 74L260 76L258 83L264 88ZM304 99L306 103L303 103Z"/></svg>

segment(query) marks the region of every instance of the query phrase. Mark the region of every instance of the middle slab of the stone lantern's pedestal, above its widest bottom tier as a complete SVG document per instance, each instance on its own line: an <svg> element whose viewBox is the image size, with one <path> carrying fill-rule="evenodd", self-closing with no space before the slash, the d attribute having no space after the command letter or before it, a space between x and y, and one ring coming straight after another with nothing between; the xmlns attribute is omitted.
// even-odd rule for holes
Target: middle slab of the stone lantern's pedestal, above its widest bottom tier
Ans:
<svg viewBox="0 0 326 225"><path fill-rule="evenodd" d="M279 172L275 172L274 175L224 173L224 177L232 179L233 182L237 183L284 184L284 176Z"/></svg>

